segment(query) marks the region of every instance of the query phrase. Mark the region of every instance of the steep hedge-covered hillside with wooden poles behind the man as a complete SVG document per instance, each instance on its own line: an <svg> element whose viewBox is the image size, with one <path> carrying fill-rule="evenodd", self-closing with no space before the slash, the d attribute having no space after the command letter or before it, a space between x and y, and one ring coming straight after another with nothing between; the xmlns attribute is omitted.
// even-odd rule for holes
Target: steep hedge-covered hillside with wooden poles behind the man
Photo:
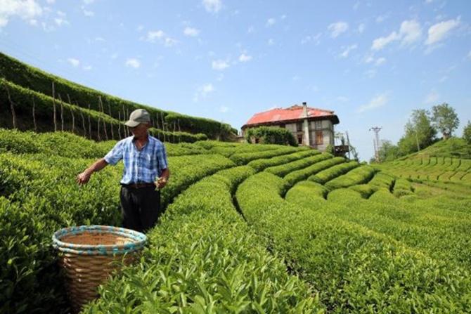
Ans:
<svg viewBox="0 0 471 314"><path fill-rule="evenodd" d="M120 138L125 135L121 122L133 110L144 108L153 118L153 133L165 141L228 140L237 134L228 124L110 96L4 53L0 53L0 78L0 110L5 113L0 117L0 127L4 128L13 127L15 116L20 130L72 131L95 140Z"/></svg>

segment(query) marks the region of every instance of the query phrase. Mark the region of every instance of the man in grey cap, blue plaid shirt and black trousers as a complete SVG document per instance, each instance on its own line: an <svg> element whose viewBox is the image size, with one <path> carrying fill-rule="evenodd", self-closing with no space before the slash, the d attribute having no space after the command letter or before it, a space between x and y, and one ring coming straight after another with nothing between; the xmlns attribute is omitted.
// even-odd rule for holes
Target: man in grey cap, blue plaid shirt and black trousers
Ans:
<svg viewBox="0 0 471 314"><path fill-rule="evenodd" d="M162 142L148 133L150 115L146 110L134 110L125 124L133 136L120 140L105 157L79 174L77 183L86 184L93 172L123 159L120 194L123 227L145 232L162 214L160 189L167 184L170 175L167 155Z"/></svg>

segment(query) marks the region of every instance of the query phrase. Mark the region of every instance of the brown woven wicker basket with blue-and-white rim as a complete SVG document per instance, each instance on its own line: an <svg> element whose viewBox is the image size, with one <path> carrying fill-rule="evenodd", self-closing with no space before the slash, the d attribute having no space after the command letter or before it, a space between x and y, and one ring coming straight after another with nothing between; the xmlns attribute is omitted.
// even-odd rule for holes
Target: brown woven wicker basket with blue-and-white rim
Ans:
<svg viewBox="0 0 471 314"><path fill-rule="evenodd" d="M63 228L53 237L65 270L72 310L98 297L98 286L123 263L131 263L146 243L146 235L108 225Z"/></svg>

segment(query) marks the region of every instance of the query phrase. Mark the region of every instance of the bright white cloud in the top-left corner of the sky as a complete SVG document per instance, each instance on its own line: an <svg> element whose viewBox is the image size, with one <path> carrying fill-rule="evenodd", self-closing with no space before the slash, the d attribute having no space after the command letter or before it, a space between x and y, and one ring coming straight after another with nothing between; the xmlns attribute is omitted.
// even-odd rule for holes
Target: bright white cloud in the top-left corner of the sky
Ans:
<svg viewBox="0 0 471 314"><path fill-rule="evenodd" d="M31 25L37 24L35 18L43 12L41 6L35 0L1 0L0 1L0 27L8 24L10 18L18 16ZM32 22L32 20L36 22Z"/></svg>

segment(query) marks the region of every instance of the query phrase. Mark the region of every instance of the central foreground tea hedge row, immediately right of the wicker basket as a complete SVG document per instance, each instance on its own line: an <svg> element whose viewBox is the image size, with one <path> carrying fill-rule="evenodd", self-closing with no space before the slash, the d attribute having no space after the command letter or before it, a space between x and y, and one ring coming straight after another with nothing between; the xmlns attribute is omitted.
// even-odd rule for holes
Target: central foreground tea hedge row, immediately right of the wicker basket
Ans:
<svg viewBox="0 0 471 314"><path fill-rule="evenodd" d="M321 313L316 294L233 205L231 190L252 174L219 171L183 192L150 232L141 263L101 287L84 313Z"/></svg>

